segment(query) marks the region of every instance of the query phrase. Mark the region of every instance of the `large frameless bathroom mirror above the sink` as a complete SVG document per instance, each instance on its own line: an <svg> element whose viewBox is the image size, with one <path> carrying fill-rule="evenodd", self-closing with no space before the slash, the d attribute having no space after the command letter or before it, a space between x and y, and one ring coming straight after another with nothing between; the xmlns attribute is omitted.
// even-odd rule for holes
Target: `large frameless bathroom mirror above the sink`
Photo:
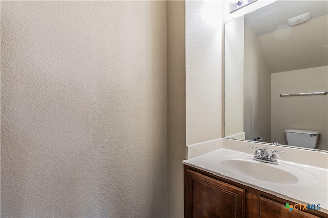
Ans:
<svg viewBox="0 0 328 218"><path fill-rule="evenodd" d="M225 24L226 138L287 146L286 129L310 130L328 150L327 3L276 1Z"/></svg>

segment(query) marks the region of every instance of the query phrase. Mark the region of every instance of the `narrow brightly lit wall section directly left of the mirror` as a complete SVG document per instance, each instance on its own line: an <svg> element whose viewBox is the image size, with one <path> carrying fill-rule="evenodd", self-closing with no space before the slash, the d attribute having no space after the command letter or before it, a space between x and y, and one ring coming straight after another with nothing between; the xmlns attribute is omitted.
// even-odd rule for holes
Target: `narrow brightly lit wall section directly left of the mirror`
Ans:
<svg viewBox="0 0 328 218"><path fill-rule="evenodd" d="M186 144L222 137L222 1L186 1Z"/></svg>

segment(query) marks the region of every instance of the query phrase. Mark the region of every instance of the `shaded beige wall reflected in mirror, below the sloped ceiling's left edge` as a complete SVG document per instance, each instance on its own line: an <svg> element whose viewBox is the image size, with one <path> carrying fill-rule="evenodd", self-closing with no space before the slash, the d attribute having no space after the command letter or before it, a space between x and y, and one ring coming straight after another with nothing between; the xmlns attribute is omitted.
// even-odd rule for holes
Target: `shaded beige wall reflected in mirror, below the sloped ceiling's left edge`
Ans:
<svg viewBox="0 0 328 218"><path fill-rule="evenodd" d="M271 142L271 74L258 36L245 25L244 131Z"/></svg>

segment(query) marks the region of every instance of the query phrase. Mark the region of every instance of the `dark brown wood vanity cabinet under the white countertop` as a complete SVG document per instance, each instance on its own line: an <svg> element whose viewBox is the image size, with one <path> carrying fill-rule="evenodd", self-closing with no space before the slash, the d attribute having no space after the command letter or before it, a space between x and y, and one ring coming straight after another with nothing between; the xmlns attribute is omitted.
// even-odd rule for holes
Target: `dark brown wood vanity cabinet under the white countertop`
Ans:
<svg viewBox="0 0 328 218"><path fill-rule="evenodd" d="M297 204L185 165L185 217L328 217L318 210L289 210Z"/></svg>

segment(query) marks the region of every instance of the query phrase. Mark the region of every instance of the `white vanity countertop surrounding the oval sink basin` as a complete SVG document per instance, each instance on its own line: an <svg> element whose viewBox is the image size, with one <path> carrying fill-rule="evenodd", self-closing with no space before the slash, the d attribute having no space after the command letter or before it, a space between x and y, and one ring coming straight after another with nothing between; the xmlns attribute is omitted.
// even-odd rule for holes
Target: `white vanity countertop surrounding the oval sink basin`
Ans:
<svg viewBox="0 0 328 218"><path fill-rule="evenodd" d="M320 204L321 209L319 211L328 213L328 170L326 168L319 168L281 160L279 161L278 157L278 163L281 163L281 165L287 164L297 167L298 169L311 173L314 176L313 178L316 178L313 180L308 179L306 182L299 182L296 184L281 184L257 180L248 177L247 175L242 175L238 172L224 169L219 164L215 164L213 162L215 157L217 159L217 156L221 155L241 155L247 156L247 158L253 158L253 155L248 153L221 148L208 154L185 160L183 161L183 164L213 173L214 175L259 189L267 193L277 195L280 198L284 198L298 204Z"/></svg>

